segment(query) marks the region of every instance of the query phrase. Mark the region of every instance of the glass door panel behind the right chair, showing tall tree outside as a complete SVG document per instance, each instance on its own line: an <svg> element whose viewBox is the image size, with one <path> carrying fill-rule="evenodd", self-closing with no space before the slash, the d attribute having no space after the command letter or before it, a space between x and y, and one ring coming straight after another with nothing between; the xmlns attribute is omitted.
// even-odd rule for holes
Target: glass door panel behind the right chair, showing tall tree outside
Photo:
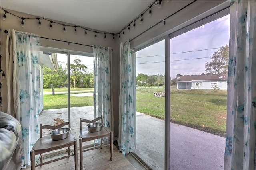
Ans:
<svg viewBox="0 0 256 170"><path fill-rule="evenodd" d="M70 54L70 117L74 134L80 130L80 118L93 117L93 57ZM93 141L86 142L92 144Z"/></svg>

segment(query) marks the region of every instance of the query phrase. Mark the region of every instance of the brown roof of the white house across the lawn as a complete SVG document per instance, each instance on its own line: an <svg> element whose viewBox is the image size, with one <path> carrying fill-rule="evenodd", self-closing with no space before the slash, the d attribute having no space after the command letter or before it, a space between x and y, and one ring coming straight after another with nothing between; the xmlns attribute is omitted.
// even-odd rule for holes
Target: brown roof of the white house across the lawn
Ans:
<svg viewBox="0 0 256 170"><path fill-rule="evenodd" d="M191 75L191 76L178 76L177 82L191 82L192 80L227 80L228 74L211 74L211 75Z"/></svg>

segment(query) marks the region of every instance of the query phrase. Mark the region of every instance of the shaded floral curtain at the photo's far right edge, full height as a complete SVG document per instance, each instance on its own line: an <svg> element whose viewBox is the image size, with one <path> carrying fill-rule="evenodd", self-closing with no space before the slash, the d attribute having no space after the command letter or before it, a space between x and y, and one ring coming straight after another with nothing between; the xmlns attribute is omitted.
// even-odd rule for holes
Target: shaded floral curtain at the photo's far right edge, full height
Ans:
<svg viewBox="0 0 256 170"><path fill-rule="evenodd" d="M256 169L256 1L230 1L225 170Z"/></svg>

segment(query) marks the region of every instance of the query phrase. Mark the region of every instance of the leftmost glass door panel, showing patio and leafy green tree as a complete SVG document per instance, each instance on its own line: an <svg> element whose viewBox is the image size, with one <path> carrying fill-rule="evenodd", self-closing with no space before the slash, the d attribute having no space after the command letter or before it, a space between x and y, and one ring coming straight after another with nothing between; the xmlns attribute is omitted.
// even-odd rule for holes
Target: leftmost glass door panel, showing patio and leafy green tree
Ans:
<svg viewBox="0 0 256 170"><path fill-rule="evenodd" d="M40 52L43 110L39 115L39 123L43 125L60 125L68 121L67 61L67 54ZM42 136L49 132L43 129Z"/></svg>

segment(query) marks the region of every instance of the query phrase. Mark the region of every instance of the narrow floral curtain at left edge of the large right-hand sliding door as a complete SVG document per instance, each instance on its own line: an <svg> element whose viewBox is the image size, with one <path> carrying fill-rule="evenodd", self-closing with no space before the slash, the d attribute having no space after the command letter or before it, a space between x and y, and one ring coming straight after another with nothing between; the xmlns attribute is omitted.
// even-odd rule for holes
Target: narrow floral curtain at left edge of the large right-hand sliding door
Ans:
<svg viewBox="0 0 256 170"><path fill-rule="evenodd" d="M120 95L119 95L119 137L118 145L122 154L135 151L136 108L134 107L134 64L130 41L120 46Z"/></svg>

